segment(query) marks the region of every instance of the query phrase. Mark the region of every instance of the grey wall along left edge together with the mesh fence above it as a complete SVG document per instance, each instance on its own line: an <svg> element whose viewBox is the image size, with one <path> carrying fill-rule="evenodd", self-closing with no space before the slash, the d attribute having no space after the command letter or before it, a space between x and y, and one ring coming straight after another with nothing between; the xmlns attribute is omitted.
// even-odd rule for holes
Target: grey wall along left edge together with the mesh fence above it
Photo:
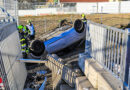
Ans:
<svg viewBox="0 0 130 90"><path fill-rule="evenodd" d="M5 90L23 90L26 68L17 61L21 56L17 31L17 2L0 1L0 78Z"/></svg>

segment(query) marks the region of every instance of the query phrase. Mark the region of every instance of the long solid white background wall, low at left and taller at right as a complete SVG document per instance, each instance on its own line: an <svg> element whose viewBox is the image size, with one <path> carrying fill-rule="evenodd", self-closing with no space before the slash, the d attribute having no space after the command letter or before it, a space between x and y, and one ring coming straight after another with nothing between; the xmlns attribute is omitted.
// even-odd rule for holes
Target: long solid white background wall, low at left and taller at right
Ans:
<svg viewBox="0 0 130 90"><path fill-rule="evenodd" d="M130 13L130 1L77 3L76 7L41 8L19 10L19 16L39 16L48 14L91 14L91 13Z"/></svg>

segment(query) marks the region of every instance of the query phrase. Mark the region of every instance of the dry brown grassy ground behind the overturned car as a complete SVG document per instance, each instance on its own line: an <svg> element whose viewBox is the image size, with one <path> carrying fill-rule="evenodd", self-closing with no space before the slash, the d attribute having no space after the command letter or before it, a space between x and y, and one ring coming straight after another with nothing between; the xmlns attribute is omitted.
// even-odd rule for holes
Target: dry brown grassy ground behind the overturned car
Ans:
<svg viewBox="0 0 130 90"><path fill-rule="evenodd" d="M74 21L80 19L79 14L68 15L46 15L46 16L27 16L19 17L19 24L26 25L27 20L32 20L36 30L36 38L43 33L53 30L59 24L59 20L67 19L68 21ZM90 14L86 15L86 18L97 23L103 23L108 26L120 28L120 25L127 25L130 22L130 14Z"/></svg>

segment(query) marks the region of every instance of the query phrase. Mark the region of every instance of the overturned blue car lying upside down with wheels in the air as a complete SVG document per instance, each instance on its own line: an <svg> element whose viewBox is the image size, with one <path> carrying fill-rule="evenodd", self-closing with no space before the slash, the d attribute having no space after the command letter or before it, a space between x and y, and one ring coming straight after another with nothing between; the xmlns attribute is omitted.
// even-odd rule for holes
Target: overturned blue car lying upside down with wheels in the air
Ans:
<svg viewBox="0 0 130 90"><path fill-rule="evenodd" d="M35 40L31 44L31 51L35 56L40 56L44 51L47 53L56 53L69 47L70 45L83 39L86 34L85 24L82 20L77 19L74 22L74 26L69 30L55 36L49 40L41 42Z"/></svg>

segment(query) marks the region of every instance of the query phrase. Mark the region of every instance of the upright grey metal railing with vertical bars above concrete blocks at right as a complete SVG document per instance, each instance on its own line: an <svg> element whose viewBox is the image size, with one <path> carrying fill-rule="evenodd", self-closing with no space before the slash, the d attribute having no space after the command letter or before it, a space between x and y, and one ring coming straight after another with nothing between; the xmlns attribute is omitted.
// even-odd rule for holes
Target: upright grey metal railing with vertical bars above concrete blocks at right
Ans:
<svg viewBox="0 0 130 90"><path fill-rule="evenodd" d="M108 27L91 21L88 21L88 26L91 39L91 56L123 83L128 84L130 63L130 35L128 30Z"/></svg>

